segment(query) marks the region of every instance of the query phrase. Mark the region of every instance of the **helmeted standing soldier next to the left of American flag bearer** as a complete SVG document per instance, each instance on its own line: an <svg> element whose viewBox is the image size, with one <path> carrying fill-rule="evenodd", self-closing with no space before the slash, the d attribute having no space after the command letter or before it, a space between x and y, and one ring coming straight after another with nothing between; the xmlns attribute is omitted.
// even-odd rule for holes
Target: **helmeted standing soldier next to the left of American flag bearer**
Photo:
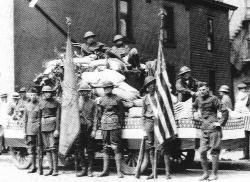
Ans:
<svg viewBox="0 0 250 182"><path fill-rule="evenodd" d="M121 127L124 120L124 108L121 98L112 93L114 85L112 82L103 84L105 96L103 96L98 105L98 112L94 120L92 136L95 136L97 124L101 120L102 137L103 137L103 171L99 177L109 175L109 147L114 150L116 169L118 178L123 178L121 172ZM101 119L100 119L101 118Z"/></svg>

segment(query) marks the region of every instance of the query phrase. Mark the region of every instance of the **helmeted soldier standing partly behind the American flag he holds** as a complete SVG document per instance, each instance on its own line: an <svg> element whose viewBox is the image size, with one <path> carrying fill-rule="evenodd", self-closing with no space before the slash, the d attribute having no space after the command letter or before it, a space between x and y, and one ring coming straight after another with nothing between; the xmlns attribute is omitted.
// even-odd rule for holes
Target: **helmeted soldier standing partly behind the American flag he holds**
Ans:
<svg viewBox="0 0 250 182"><path fill-rule="evenodd" d="M147 179L153 179L153 164L154 164L154 122L155 122L155 114L152 108L152 104L156 105L156 100L154 97L155 94L155 84L156 79L153 76L148 76L145 79L143 88L146 89L147 95L143 98L143 106L142 106L142 120L143 120L143 128L147 134L147 148L149 150L150 163L152 165L152 173L147 177ZM164 163L165 163L165 171L166 171L166 179L171 179L170 177L170 160L169 160L169 149L167 147L162 146L162 152L164 154Z"/></svg>

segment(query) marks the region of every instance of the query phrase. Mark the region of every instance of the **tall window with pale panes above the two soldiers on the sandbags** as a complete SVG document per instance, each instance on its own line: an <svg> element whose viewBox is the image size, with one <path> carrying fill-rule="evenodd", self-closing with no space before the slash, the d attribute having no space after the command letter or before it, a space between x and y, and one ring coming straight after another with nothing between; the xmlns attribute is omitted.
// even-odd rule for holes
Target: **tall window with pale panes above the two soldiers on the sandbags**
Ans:
<svg viewBox="0 0 250 182"><path fill-rule="evenodd" d="M118 0L118 31L125 38L132 40L131 0Z"/></svg>

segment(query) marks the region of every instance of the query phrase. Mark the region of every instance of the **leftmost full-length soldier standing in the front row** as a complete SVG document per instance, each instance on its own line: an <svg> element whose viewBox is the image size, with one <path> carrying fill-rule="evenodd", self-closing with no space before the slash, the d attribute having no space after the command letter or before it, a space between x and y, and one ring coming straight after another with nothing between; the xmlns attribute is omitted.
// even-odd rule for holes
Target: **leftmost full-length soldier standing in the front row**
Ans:
<svg viewBox="0 0 250 182"><path fill-rule="evenodd" d="M29 100L26 104L25 113L25 135L28 145L28 151L31 155L32 166L28 173L35 173L36 167L36 146L37 146L37 134L39 128L39 101L37 98L37 90L31 88L28 91Z"/></svg>

